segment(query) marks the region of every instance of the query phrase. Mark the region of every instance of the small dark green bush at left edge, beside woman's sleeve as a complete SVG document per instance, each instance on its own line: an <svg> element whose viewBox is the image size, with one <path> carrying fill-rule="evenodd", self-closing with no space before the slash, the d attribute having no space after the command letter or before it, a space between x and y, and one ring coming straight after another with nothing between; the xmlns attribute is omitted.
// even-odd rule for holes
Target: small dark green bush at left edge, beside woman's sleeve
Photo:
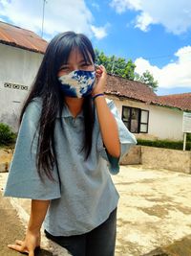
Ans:
<svg viewBox="0 0 191 256"><path fill-rule="evenodd" d="M16 134L11 128L3 123L0 123L0 145L11 145L15 142Z"/></svg>

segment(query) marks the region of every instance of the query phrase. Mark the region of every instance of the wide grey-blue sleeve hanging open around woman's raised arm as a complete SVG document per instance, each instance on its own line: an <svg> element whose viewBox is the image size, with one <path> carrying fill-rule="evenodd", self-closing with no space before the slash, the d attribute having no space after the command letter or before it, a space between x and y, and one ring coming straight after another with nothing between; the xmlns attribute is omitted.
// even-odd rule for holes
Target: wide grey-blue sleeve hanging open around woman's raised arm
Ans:
<svg viewBox="0 0 191 256"><path fill-rule="evenodd" d="M101 138L101 134L99 132L98 141L97 141L97 150L100 155L108 161L109 163L109 171L112 175L117 175L119 172L119 161L120 159L131 149L131 147L137 144L136 137L133 133L131 133L128 128L125 127L124 123L120 119L117 113L117 107L113 101L107 99L107 104L110 107L111 112L113 113L118 128L118 136L120 142L120 156L114 157L110 155L107 150L103 146L103 141Z"/></svg>

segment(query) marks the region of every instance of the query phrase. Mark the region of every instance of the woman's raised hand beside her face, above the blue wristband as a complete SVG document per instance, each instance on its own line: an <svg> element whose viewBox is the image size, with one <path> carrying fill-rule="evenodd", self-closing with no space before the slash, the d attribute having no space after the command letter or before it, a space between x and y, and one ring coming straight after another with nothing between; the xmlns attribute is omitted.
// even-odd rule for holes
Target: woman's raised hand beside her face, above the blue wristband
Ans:
<svg viewBox="0 0 191 256"><path fill-rule="evenodd" d="M96 67L96 85L92 92L93 96L98 93L104 93L106 79L107 79L107 73L106 73L105 67L103 65Z"/></svg>

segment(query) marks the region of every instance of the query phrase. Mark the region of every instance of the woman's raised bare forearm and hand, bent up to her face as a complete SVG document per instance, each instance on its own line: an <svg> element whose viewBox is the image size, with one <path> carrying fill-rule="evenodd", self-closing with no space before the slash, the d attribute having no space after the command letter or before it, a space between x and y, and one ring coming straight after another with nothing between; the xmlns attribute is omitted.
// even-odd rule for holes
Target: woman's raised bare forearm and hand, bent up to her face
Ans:
<svg viewBox="0 0 191 256"><path fill-rule="evenodd" d="M93 97L104 92L106 78L106 70L103 66L100 66L96 70L97 83L93 91ZM96 97L95 105L104 146L112 156L118 158L120 155L120 144L116 119L108 107L104 96Z"/></svg>

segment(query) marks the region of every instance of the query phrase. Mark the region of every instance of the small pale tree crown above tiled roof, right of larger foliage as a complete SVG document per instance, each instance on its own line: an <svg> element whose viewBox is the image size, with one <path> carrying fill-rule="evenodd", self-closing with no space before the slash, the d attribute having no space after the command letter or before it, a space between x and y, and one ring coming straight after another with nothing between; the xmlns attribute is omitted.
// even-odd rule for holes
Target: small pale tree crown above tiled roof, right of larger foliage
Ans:
<svg viewBox="0 0 191 256"><path fill-rule="evenodd" d="M141 76L136 74L135 80L146 83L153 91L158 90L158 81L154 80L153 75L148 70L142 73Z"/></svg>

